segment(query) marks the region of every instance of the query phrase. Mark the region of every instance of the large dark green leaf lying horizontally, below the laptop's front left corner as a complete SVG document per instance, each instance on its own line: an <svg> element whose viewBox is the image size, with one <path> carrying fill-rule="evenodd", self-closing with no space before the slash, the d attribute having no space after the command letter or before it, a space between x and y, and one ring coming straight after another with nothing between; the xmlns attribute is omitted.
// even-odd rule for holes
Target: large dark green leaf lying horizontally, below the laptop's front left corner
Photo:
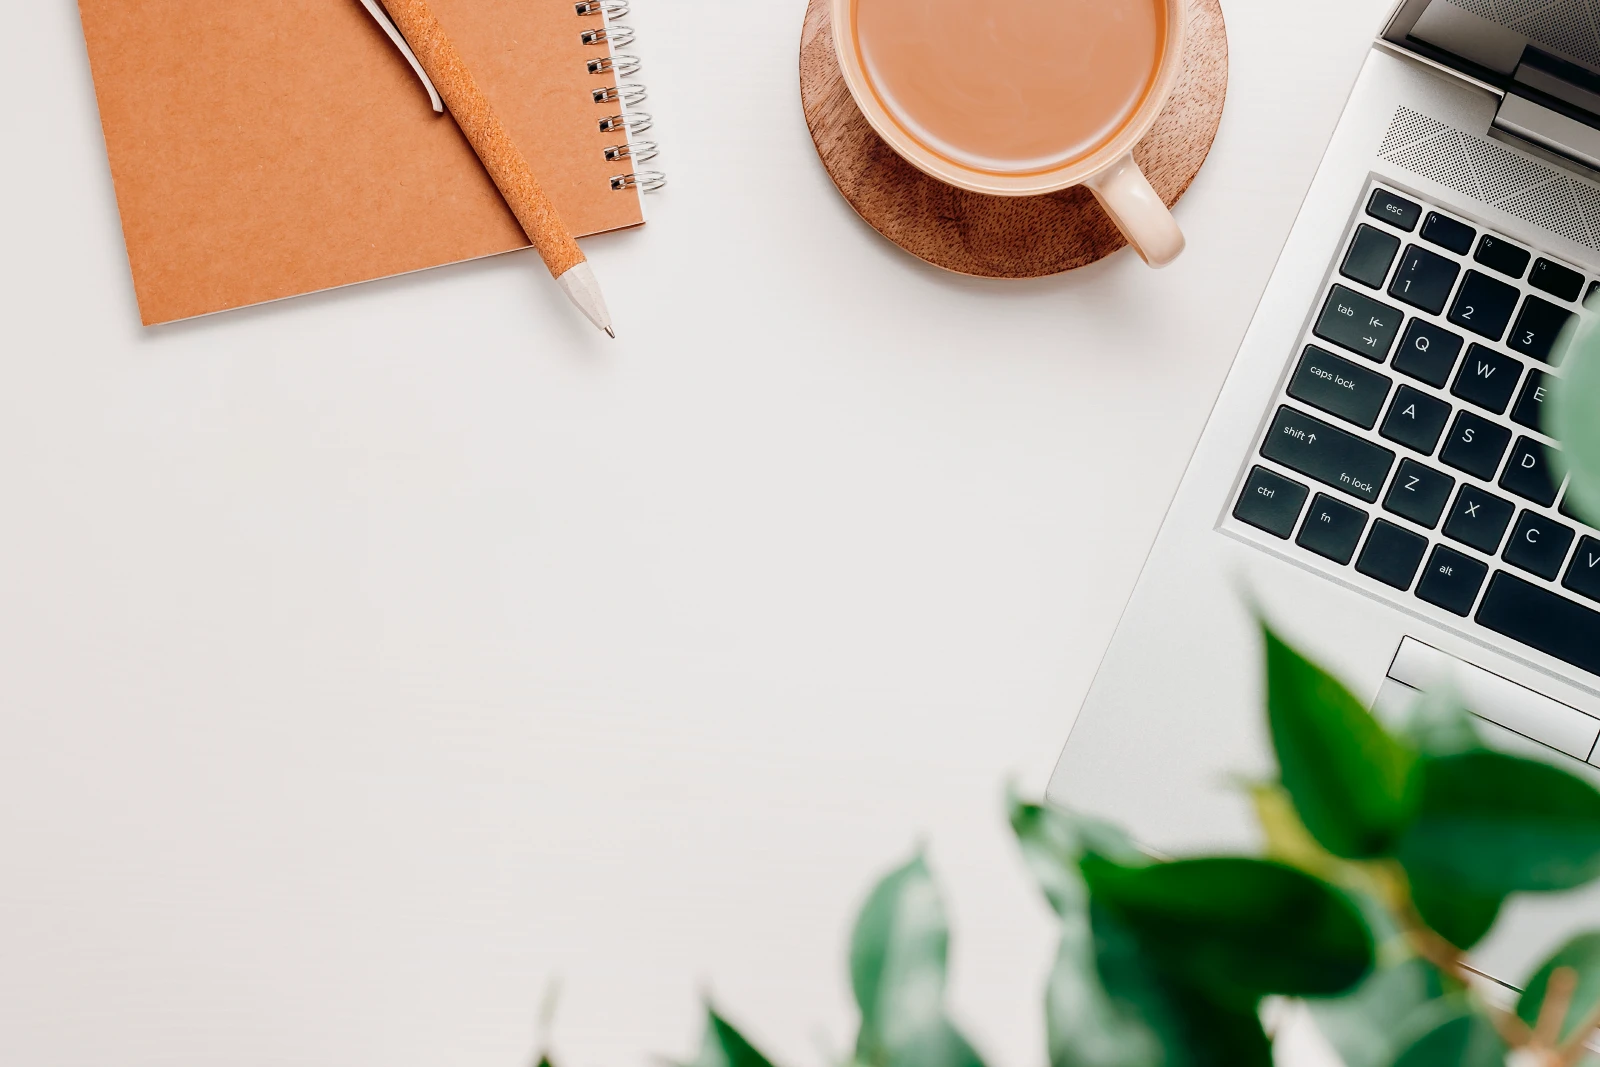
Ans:
<svg viewBox="0 0 1600 1067"><path fill-rule="evenodd" d="M1253 1008L1266 995L1331 997L1373 968L1357 904L1302 870L1259 859L1120 867L1098 856L1083 875L1157 965L1213 1000Z"/></svg>

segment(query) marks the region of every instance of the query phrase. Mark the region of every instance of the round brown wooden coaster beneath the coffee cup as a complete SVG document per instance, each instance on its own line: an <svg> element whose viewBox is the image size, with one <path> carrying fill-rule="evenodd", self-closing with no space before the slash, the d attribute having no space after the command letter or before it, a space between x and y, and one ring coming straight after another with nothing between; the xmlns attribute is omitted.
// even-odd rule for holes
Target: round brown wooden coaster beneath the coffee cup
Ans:
<svg viewBox="0 0 1600 1067"><path fill-rule="evenodd" d="M867 123L838 74L829 0L811 0L800 35L800 104L838 192L883 237L928 262L986 278L1038 278L1088 266L1128 242L1083 187L986 197L928 178ZM1200 173L1227 99L1219 0L1190 0L1184 72L1133 155L1168 206Z"/></svg>

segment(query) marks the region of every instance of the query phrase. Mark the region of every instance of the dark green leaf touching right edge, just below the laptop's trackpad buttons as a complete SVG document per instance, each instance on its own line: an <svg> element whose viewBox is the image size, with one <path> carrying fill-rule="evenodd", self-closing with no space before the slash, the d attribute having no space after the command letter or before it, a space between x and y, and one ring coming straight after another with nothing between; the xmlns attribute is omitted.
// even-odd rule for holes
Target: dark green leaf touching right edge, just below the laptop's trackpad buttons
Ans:
<svg viewBox="0 0 1600 1067"><path fill-rule="evenodd" d="M1600 877L1600 790L1589 782L1499 752L1426 760L1419 777L1400 843L1413 885L1490 899Z"/></svg>

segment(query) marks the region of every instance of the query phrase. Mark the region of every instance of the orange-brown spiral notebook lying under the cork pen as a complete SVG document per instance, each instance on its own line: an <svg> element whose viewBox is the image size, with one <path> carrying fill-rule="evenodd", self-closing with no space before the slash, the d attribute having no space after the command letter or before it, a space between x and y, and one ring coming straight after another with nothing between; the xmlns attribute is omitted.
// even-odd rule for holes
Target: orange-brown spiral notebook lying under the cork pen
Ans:
<svg viewBox="0 0 1600 1067"><path fill-rule="evenodd" d="M432 0L584 237L645 221L626 0ZM80 0L146 325L526 246L358 0Z"/></svg>

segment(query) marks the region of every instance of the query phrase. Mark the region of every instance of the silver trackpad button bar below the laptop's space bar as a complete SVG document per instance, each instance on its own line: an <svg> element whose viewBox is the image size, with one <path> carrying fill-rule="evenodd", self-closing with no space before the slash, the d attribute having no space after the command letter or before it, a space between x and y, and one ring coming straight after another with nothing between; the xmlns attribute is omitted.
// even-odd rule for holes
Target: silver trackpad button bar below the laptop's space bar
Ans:
<svg viewBox="0 0 1600 1067"><path fill-rule="evenodd" d="M1600 718L1411 637L1400 641L1378 707L1403 710L1421 693L1440 685L1451 686L1478 718L1600 768ZM1600 769L1592 777L1600 779Z"/></svg>

